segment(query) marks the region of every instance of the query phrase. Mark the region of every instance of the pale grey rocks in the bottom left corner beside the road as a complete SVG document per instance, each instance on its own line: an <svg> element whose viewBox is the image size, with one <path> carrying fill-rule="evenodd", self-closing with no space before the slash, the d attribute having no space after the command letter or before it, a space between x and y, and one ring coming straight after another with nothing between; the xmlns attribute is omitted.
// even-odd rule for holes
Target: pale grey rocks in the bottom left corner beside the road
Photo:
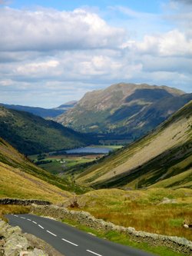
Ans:
<svg viewBox="0 0 192 256"><path fill-rule="evenodd" d="M0 256L62 256L49 244L31 234L22 234L19 227L11 227L0 220Z"/></svg>

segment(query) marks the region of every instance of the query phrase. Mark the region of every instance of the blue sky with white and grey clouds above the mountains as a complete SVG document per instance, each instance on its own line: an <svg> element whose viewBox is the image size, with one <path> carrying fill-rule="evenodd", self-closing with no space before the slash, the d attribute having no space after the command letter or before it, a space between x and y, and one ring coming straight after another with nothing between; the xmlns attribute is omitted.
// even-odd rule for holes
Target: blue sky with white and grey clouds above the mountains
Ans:
<svg viewBox="0 0 192 256"><path fill-rule="evenodd" d="M0 102L54 108L118 82L192 91L192 0L0 0Z"/></svg>

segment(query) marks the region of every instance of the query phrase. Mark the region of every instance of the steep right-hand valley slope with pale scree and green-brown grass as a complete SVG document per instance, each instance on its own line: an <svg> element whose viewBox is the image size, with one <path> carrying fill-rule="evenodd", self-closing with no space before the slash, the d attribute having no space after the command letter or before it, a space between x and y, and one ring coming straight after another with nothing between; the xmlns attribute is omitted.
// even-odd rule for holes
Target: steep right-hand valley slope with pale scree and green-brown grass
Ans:
<svg viewBox="0 0 192 256"><path fill-rule="evenodd" d="M192 101L151 134L78 176L94 188L192 188Z"/></svg>

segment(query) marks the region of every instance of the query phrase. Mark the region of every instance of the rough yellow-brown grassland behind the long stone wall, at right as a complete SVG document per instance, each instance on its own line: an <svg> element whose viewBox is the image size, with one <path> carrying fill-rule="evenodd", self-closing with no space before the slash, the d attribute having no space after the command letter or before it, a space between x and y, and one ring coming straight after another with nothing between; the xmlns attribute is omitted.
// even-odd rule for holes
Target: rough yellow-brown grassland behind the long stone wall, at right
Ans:
<svg viewBox="0 0 192 256"><path fill-rule="evenodd" d="M170 203L165 204L164 198L168 198ZM78 196L78 204L77 211L88 211L104 221L133 227L137 231L184 237L192 241L192 231L183 227L184 221L192 223L190 189L90 191Z"/></svg>

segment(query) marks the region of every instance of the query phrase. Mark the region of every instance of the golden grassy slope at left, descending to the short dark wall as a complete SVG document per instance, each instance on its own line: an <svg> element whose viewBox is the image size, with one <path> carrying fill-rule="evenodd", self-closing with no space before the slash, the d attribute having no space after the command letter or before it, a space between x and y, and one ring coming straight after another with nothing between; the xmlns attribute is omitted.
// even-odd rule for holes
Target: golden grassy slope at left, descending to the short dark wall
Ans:
<svg viewBox="0 0 192 256"><path fill-rule="evenodd" d="M0 197L61 201L70 197L67 183L57 180L19 154L0 138ZM60 187L60 188L58 188Z"/></svg>

